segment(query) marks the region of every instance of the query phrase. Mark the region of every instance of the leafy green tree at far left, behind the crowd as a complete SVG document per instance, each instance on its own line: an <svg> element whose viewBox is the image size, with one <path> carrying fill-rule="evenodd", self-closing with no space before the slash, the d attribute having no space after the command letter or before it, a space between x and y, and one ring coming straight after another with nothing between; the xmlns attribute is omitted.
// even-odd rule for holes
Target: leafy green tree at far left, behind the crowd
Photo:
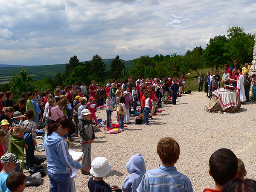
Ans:
<svg viewBox="0 0 256 192"><path fill-rule="evenodd" d="M13 79L10 82L10 89L14 94L14 102L17 102L17 100L20 98L21 93L26 91L34 91L35 82L30 76L29 70L25 70L24 68L19 69L19 73L13 75Z"/></svg>

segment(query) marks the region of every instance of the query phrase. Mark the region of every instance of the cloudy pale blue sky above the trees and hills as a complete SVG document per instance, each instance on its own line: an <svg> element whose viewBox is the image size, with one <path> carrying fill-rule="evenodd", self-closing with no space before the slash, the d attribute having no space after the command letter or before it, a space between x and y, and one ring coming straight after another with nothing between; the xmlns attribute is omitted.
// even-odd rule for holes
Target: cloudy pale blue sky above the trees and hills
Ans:
<svg viewBox="0 0 256 192"><path fill-rule="evenodd" d="M0 64L184 54L256 29L255 0L0 0Z"/></svg>

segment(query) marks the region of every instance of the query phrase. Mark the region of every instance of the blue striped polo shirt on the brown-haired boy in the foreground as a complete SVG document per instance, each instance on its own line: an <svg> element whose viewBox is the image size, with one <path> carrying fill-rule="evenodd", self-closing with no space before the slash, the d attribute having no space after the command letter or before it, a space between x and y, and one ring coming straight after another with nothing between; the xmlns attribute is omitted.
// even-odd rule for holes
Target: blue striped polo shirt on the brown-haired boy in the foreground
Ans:
<svg viewBox="0 0 256 192"><path fill-rule="evenodd" d="M193 192L192 184L186 175L177 172L176 167L160 166L144 175L138 192Z"/></svg>

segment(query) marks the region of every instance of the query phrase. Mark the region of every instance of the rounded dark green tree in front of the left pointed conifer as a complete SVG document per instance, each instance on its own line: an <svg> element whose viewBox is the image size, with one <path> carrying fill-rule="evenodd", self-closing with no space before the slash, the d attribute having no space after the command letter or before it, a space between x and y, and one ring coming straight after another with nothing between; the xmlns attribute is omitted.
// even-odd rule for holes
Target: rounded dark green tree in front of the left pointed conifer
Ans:
<svg viewBox="0 0 256 192"><path fill-rule="evenodd" d="M79 65L75 67L73 71L70 72L69 76L64 82L64 85L74 84L76 81L81 83L81 81L84 81L85 84L90 84L92 80L92 76L90 76L88 72L88 68L86 65Z"/></svg>

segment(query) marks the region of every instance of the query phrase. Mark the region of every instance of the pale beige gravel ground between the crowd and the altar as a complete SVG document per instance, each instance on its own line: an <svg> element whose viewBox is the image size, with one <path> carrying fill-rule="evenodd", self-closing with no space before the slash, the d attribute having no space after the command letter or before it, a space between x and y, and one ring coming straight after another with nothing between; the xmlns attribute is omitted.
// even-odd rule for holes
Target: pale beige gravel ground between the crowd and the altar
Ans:
<svg viewBox="0 0 256 192"><path fill-rule="evenodd" d="M209 157L219 148L230 148L244 161L247 177L256 180L255 103L241 105L235 113L205 113L209 99L203 92L192 92L177 99L177 105L163 105L163 113L149 119L150 126L128 125L128 130L119 134L96 133L92 144L92 160L103 156L112 165L110 174L105 177L109 185L122 187L128 175L125 168L129 158L137 153L143 155L146 169L155 169L160 160L157 156L157 142L162 137L174 137L180 145L180 158L175 164L177 170L187 175L195 192L214 187L214 180L208 174ZM116 112L112 120L116 120ZM97 111L97 118L106 119L105 110ZM130 119L132 123L135 118ZM72 149L81 151L78 137L74 137ZM43 139L37 140L43 143ZM45 157L45 151L35 152ZM47 170L46 162L43 164ZM24 170L26 172L26 170ZM90 176L78 172L75 179L77 192L88 192ZM40 186L26 187L25 192L49 191L49 178L43 178Z"/></svg>

